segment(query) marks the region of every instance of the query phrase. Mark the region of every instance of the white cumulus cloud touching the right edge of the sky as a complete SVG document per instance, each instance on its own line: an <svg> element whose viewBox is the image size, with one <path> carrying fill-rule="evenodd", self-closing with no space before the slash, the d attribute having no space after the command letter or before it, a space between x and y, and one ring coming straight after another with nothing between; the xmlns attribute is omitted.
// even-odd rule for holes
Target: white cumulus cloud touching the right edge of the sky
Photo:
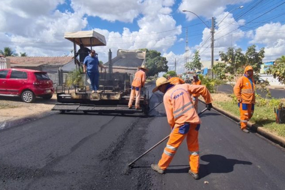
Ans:
<svg viewBox="0 0 285 190"><path fill-rule="evenodd" d="M251 44L259 43L265 45L265 59L275 60L285 52L285 24L267 23L255 29L255 35Z"/></svg>

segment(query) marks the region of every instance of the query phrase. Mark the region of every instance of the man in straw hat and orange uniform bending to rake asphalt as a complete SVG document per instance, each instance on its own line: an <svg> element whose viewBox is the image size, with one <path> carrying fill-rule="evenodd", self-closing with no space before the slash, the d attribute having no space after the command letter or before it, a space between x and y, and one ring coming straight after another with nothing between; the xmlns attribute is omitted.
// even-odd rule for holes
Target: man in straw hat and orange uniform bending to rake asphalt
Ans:
<svg viewBox="0 0 285 190"><path fill-rule="evenodd" d="M192 104L191 94L203 96L207 104L206 107L210 110L212 108L210 92L202 85L172 85L164 77L156 80L156 88L153 89L153 92L157 90L164 93L163 102L167 121L171 126L171 133L161 159L158 164L151 164L151 168L163 174L186 137L189 151L189 174L194 179L199 179L198 131L201 121Z"/></svg>

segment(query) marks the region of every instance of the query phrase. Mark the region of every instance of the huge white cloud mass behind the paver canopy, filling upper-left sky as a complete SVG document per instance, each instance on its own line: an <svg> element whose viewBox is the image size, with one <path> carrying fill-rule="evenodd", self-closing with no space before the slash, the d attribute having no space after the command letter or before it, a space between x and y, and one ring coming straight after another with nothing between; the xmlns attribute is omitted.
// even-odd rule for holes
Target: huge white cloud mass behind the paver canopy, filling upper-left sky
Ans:
<svg viewBox="0 0 285 190"><path fill-rule="evenodd" d="M96 47L103 61L107 61L109 48L113 52L119 48L166 51L175 43L176 36L181 34L181 26L176 26L176 21L170 15L174 0L73 0L70 6L74 12L56 10L59 4L64 3L63 0L29 0L28 4L33 4L37 10L31 10L31 6L22 5L19 0L5 0L5 3L5 10L0 8L0 37L5 42L1 43L0 49L9 46L29 56L68 54L73 45L63 38L64 32L84 29L88 24L86 16L133 22L140 15L137 19L138 31L131 32L124 28L119 33L93 26L95 31L106 37L107 46ZM45 7L44 10L42 7ZM89 25L92 27L91 23ZM175 30L163 32L169 29Z"/></svg>

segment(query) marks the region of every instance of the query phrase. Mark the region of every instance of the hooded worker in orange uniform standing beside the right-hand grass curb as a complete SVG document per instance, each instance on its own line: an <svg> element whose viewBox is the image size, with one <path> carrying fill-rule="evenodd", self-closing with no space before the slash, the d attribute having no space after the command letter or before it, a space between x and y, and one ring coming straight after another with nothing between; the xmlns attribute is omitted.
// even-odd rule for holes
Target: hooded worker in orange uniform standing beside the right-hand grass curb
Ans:
<svg viewBox="0 0 285 190"><path fill-rule="evenodd" d="M249 133L246 129L247 121L254 113L254 90L253 69L252 66L246 66L244 75L238 79L234 86L234 94L238 99L238 107L240 108L240 129L245 133Z"/></svg>

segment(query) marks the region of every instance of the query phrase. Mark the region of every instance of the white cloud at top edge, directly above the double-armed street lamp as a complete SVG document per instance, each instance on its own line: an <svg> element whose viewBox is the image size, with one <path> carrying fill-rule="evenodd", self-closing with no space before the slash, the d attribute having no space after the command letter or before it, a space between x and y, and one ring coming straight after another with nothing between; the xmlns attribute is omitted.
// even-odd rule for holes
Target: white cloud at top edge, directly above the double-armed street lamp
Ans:
<svg viewBox="0 0 285 190"><path fill-rule="evenodd" d="M182 0L179 10L182 12L183 9L192 11L199 16L203 16L205 18L211 18L216 15L220 15L226 9L227 5L232 4L240 4L246 3L251 0L236 0L236 1L229 1L229 0ZM194 14L190 12L183 12L186 15L188 20L193 20L197 18Z"/></svg>

